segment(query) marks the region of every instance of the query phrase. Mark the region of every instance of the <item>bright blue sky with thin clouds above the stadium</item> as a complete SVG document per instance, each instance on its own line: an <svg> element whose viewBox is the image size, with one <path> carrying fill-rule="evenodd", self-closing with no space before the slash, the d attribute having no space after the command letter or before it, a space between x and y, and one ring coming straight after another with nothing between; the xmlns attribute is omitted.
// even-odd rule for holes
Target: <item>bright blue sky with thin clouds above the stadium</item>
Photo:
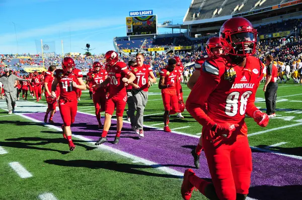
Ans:
<svg viewBox="0 0 302 200"><path fill-rule="evenodd" d="M55 41L56 53L84 53L90 43L92 53L113 50L113 38L126 36L125 17L129 11L153 10L159 23L173 20L181 24L191 0L0 0L0 54L36 54L35 40ZM70 27L70 38L69 38ZM171 29L159 29L159 33Z"/></svg>

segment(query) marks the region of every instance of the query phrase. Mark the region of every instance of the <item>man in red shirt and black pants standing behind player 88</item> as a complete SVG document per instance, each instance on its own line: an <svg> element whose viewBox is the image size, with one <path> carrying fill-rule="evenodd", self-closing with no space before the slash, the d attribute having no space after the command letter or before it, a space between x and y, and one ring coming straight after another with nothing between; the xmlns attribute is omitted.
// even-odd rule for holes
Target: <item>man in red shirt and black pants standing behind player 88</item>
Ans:
<svg viewBox="0 0 302 200"><path fill-rule="evenodd" d="M276 98L277 98L277 76L278 69L273 64L273 56L266 56L266 81L263 87L265 104L266 104L266 114L269 118L276 117Z"/></svg>

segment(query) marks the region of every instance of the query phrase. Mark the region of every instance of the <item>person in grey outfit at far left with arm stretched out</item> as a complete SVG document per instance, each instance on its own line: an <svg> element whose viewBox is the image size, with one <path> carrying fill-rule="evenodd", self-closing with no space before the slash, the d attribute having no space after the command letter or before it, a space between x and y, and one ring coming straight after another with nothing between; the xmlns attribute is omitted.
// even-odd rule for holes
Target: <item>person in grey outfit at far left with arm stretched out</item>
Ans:
<svg viewBox="0 0 302 200"><path fill-rule="evenodd" d="M5 74L3 74L0 77L0 82L3 84L3 89L6 97L6 102L8 105L8 110L9 110L9 115L13 114L15 110L15 105L16 105L16 97L17 97L17 90L16 90L16 84L15 82L17 80L22 80L22 81L28 81L27 79L24 78L19 78L18 76L15 76L12 74L9 68L6 68L4 70Z"/></svg>

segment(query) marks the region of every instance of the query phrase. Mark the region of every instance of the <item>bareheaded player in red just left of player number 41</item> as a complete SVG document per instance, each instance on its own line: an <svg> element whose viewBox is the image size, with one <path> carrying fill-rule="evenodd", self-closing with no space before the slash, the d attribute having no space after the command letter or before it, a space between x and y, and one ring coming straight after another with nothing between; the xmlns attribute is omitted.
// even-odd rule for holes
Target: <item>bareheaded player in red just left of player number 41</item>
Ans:
<svg viewBox="0 0 302 200"><path fill-rule="evenodd" d="M44 84L45 84L45 98L47 102L47 110L44 116L44 123L47 123L48 114L50 113L50 117L48 122L53 123L53 115L55 113L55 108L57 104L57 99L51 96L51 87L54 79L53 73L56 69L56 66L51 65L48 67L48 71L44 75ZM56 96L58 96L58 91L56 90Z"/></svg>

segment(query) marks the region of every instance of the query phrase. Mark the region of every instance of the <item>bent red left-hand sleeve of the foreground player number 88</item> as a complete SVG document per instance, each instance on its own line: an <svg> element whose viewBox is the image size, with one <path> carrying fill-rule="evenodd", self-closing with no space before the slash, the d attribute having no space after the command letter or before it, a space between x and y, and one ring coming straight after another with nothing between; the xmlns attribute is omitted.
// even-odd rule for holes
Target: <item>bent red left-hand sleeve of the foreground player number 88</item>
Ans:
<svg viewBox="0 0 302 200"><path fill-rule="evenodd" d="M209 95L217 87L219 82L219 75L209 73L206 70L200 70L200 76L187 98L187 111L202 126L212 128L215 125L215 122L210 119L201 108L205 107ZM206 87L204 85L206 85Z"/></svg>

